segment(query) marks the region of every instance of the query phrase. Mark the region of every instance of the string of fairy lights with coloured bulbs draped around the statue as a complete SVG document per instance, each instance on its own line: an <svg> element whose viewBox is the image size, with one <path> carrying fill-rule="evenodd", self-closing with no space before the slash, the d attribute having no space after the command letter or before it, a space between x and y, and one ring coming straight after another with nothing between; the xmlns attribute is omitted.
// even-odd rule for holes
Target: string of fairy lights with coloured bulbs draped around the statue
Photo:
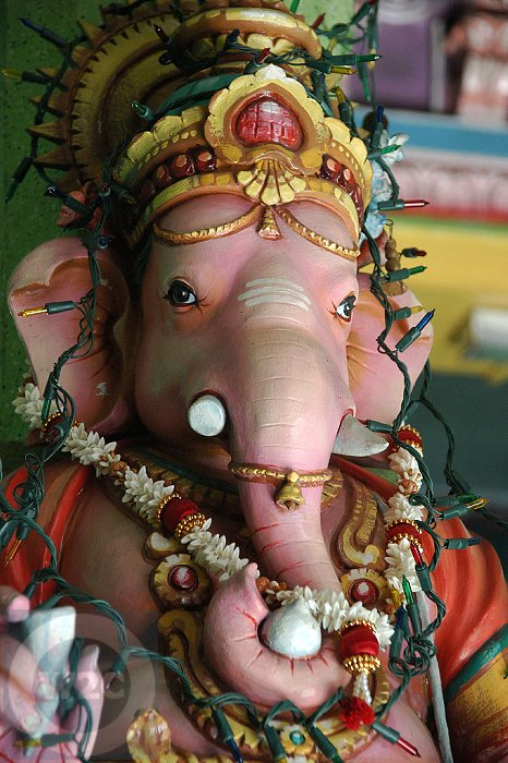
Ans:
<svg viewBox="0 0 508 763"><path fill-rule="evenodd" d="M136 0L129 5L113 3L112 5L108 7L108 11L114 15L130 19L133 16L133 13L138 7L145 5L147 2L149 2L149 0ZM298 4L299 0L293 0L290 10L295 12ZM181 13L178 7L171 8L171 10L174 12L177 19L180 21L184 20L184 15ZM368 0L368 2L364 2L349 23L337 24L328 31L324 31L319 26L323 23L323 17L320 16L317 19L313 26L316 32L328 43L327 48L324 50L323 57L318 60L312 58L302 49L292 50L283 56L276 56L269 50L259 51L250 48L249 46L240 45L238 43L239 32L234 31L228 35L222 50L215 56L213 61L207 60L203 61L201 64L196 63L196 68L209 68L214 62L220 58L227 57L230 52L241 52L250 56L250 60L245 64L245 73L252 73L258 68L268 63L291 65L293 61L301 63L302 59L304 59L306 65L312 71L312 89L309 89L310 96L316 98L325 110L325 113L330 116L334 113L331 98L336 98L338 100L340 118L348 124L352 133L355 135L359 134L359 131L354 122L354 113L350 101L346 98L340 88L336 88L334 92L328 93L325 75L328 73L351 74L358 71L362 82L365 99L373 106L375 116L374 126L367 143L368 156L371 159L375 159L379 164L380 168L387 174L391 183L391 199L385 203L383 207L385 210L388 210L403 208L406 205L404 202L399 198L399 187L390 168L383 160L384 155L390 150L394 150L397 148L397 146L379 146L379 138L384 129L384 123L383 109L379 107L376 108L373 76L373 63L377 58L379 58L377 55L376 20L376 0ZM49 77L46 74L28 71L12 72L11 70L4 70L4 73L9 76L17 76L25 82L35 82L45 86L45 93L38 101L35 114L35 124L43 124L48 111L49 99L55 89L60 86L64 73L71 65L72 52L76 46L85 43L85 38L81 36L71 41L65 41L50 29L39 26L28 20L23 20L23 23L25 26L36 32L43 39L55 45L62 55L61 65L58 69L58 73L52 77ZM189 70L189 65L184 64L184 62L178 59L178 56L171 46L171 38L166 35L164 29L155 26L155 32L160 39L161 53L159 61L161 65L176 63L181 68L186 68ZM366 50L366 52L361 55L332 52L337 48L343 49L351 47L352 45L360 46L360 48L363 48ZM189 71L189 73L197 71L196 68ZM222 77L214 78L215 90L229 84L225 83L223 76L225 75L222 75ZM137 101L134 101L133 108L136 113L144 118L147 122L154 122L164 114L172 112L179 113L183 108L189 108L190 106L198 102L207 102L210 95L213 95L213 92L210 93L210 77L205 77L202 84L197 86L197 89L195 83L193 88L189 85L184 85L183 87L179 88L179 90L173 93L171 97L167 99L167 101L160 105L156 112L153 112L148 107L144 106L143 104L138 104ZM111 156L109 160L105 162L102 182L98 190L97 196L87 205L81 204L71 195L62 192L58 184L47 173L45 168L34 165L34 161L38 156L39 140L39 135L34 134L32 136L29 154L20 162L19 167L14 171L11 184L8 189L7 197L8 199L12 197L16 186L24 180L31 167L34 166L39 177L46 184L47 195L57 198L63 205L78 213L81 216L80 225L84 231L83 244L88 253L90 289L78 302L48 303L45 306L45 312L48 314L64 312L66 310L77 310L81 314L80 331L75 343L63 352L56 361L44 390L43 421L48 417L52 402L55 402L57 412L60 414L58 425L52 428L52 434L55 436L51 438L50 443L46 443L37 452L28 452L26 455L26 479L24 482L16 485L14 489L14 507L7 499L4 493L0 492L0 547L2 549L9 547L9 559L14 556L20 544L26 540L31 532L39 535L46 544L49 555L49 562L44 569L39 569L34 572L32 581L25 590L25 594L28 597L32 597L38 585L52 581L56 586L56 593L43 605L40 605L41 608L53 607L62 598L70 598L76 603L78 602L93 605L102 615L109 617L116 625L119 640L119 657L111 666L111 676L121 675L125 670L128 661L131 658L144 658L161 663L166 670L169 671L178 682L185 705L194 706L196 710L201 711L205 708L209 708L211 711L211 717L217 728L218 738L229 749L232 758L238 763L243 760L242 753L235 742L234 734L225 713L225 708L230 705L241 706L244 708L252 726L259 732L264 734L266 743L274 760L283 761L287 753L283 749L282 742L280 741L279 734L273 724L278 716L290 714L294 723L300 724L307 731L316 748L326 759L334 761L334 763L340 763L342 759L340 758L335 746L323 734L316 724L323 716L329 713L334 707L338 706L340 700L344 695L344 690L342 688L338 688L337 691L311 715L305 715L305 713L303 713L294 703L290 701L279 702L271 707L269 712L262 714L250 700L239 693L228 692L209 698L196 697L193 692L192 683L185 674L182 664L178 659L162 656L145 649L129 646L125 626L121 615L107 602L95 600L85 592L70 585L59 573L56 546L51 538L37 523L38 510L45 495L44 470L48 461L50 461L56 453L61 450L75 419L74 401L60 385L61 371L70 361L83 358L93 351L93 328L96 311L96 294L101 277L100 267L97 262L97 252L101 249L106 249L112 242L112 237L105 235L104 233L105 223L111 215L119 193L119 190L116 189L114 183L112 182L112 167L116 158L129 143L129 138L125 140L125 142L122 142L122 144L114 152L113 156ZM97 210L99 210L98 216ZM92 227L92 229L89 229L90 221L96 217L97 219L95 225ZM374 432L382 432L390 435L396 446L403 446L411 453L411 456L416 459L419 469L422 473L423 484L422 489L418 494L411 496L410 501L414 505L422 506L426 510L426 519L418 524L423 531L428 533L434 545L434 554L428 565L423 561L422 564L416 564L415 570L423 592L436 606L437 615L435 619L425 628L422 627L419 605L413 596L411 586L409 585L408 581L404 580L403 586L406 605L401 604L396 613L395 633L390 644L388 661L390 671L400 679L400 683L399 687L392 691L386 704L376 711L375 720L371 725L377 734L382 735L389 742L397 743L400 740L399 731L383 724L382 718L406 691L410 680L414 676L422 675L428 669L430 662L434 657L436 651L433 642L433 633L439 627L446 613L444 602L433 590L430 573L436 568L443 549L462 548L477 542L477 538L443 538L436 530L437 520L461 517L467 513L470 508L476 508L477 501L480 500L481 502L481 499L470 493L469 485L467 485L453 471L452 457L455 443L452 432L427 398L427 389L431 378L428 365L425 367L421 391L418 397L414 397L407 365L401 360L401 355L404 350L418 339L426 323L432 319L433 312L431 311L431 313L426 313L424 318L422 318L422 320L416 324L415 327L410 329L407 335L404 335L404 337L398 341L394 349L388 346L387 338L395 322L400 319L400 317L406 316L397 314L397 311L392 308L391 303L383 289L383 286L386 282L394 280L396 276L394 276L392 272L387 272L384 269L376 241L372 238L365 227L363 228L363 233L368 242L372 259L374 262L374 268L371 275L371 290L383 305L385 312L385 328L377 338L378 351L386 354L390 361L398 366L404 382L401 408L392 425L370 421L367 422L367 426ZM404 252L402 252L402 254L404 254ZM413 255L414 253L411 251L407 252L407 256L411 257ZM403 277L406 279L416 275L419 271L421 271L421 269L423 269L421 266L414 268L401 268L402 274L399 274L398 277ZM448 453L445 465L445 479L450 487L450 494L448 496L436 497L434 495L433 482L423 457L418 449L400 440L397 435L403 421L408 419L418 404L423 404L445 426L448 438ZM69 682L70 691L65 698L64 706L61 706L63 712L69 712L76 705L81 707L78 728L74 734L44 735L40 739L35 741L26 740L26 743L27 746L36 743L44 748L52 747L58 743L75 742L77 746L78 759L86 760L85 751L93 723L92 710L86 700L74 688L72 680L72 677L75 676L82 647L83 641L81 639L76 639L71 652L71 680Z"/></svg>

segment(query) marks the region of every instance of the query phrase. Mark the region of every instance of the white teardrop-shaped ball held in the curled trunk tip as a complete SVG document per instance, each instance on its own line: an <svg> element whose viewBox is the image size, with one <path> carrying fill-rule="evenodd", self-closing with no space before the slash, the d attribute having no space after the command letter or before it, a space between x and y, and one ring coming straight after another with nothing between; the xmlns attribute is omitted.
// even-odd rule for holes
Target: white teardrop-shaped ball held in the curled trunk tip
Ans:
<svg viewBox="0 0 508 763"><path fill-rule="evenodd" d="M303 598L270 613L261 637L273 652L292 659L313 657L322 644L320 626Z"/></svg>

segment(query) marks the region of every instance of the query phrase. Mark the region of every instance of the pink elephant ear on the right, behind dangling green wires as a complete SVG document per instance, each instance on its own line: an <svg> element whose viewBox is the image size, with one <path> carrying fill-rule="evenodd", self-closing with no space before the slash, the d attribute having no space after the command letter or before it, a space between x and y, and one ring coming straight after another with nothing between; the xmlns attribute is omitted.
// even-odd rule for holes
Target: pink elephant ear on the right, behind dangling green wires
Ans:
<svg viewBox="0 0 508 763"><path fill-rule="evenodd" d="M359 276L359 301L353 312L348 338L347 358L349 386L356 403L356 416L374 419L391 424L400 411L403 395L403 376L390 359L377 351L376 338L385 328L385 311L371 292L371 280L366 274ZM411 291L390 296L394 310L418 304ZM414 326L422 314L397 320L387 338L394 348L399 339ZM400 356L407 364L412 384L419 377L432 347L433 331L428 324L420 339Z"/></svg>

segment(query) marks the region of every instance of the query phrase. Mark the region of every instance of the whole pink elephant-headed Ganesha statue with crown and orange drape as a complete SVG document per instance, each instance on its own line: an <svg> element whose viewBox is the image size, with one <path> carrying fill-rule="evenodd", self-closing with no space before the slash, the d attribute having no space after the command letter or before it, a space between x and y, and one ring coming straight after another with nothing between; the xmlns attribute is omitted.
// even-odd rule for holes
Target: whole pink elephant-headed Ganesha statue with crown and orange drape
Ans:
<svg viewBox="0 0 508 763"><path fill-rule="evenodd" d="M10 284L43 457L2 493L1 759L508 760L484 501L404 421L399 145L338 82L376 57L278 0L102 14L31 129L72 234Z"/></svg>

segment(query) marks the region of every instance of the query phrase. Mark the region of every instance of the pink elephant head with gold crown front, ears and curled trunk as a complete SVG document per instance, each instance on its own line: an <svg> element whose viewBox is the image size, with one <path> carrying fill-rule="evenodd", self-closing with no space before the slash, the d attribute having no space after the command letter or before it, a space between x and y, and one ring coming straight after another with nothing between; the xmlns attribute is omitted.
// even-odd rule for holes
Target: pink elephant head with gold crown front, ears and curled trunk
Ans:
<svg viewBox="0 0 508 763"><path fill-rule="evenodd" d="M286 28L286 14L279 21ZM121 194L111 225L134 251L152 233L149 256L135 292L128 257L101 252L94 352L70 364L62 383L88 427L125 432L136 416L184 465L229 481L231 471L239 475L264 576L339 591L320 529L330 455L382 450L386 443L373 444L359 420L392 422L403 391L397 365L377 351L384 310L368 276L358 272L372 167L365 144L294 76L271 64L254 74L240 66L206 106L183 86L190 101L182 112L167 101L167 112L116 157L111 180ZM84 281L86 253L75 239L43 245L13 277L13 313L76 300L88 288ZM415 300L406 291L391 303ZM78 318L16 319L44 385ZM394 346L409 327L396 322L388 341ZM430 343L427 329L404 353L412 379ZM309 480L282 498L270 483L274 470L288 481L286 496L294 479ZM330 680L337 683L337 670L319 659L326 644L311 666L312 691L302 688L301 670L291 680L291 653L277 655L274 642L271 649L269 639L268 646L258 640L266 607L254 579L249 568L218 585L207 613L209 661L262 704L290 697L313 705L319 692L329 693ZM266 657L262 670L238 673L235 644L251 664L243 642L254 650L253 665L256 655ZM264 688L266 675L271 688Z"/></svg>

